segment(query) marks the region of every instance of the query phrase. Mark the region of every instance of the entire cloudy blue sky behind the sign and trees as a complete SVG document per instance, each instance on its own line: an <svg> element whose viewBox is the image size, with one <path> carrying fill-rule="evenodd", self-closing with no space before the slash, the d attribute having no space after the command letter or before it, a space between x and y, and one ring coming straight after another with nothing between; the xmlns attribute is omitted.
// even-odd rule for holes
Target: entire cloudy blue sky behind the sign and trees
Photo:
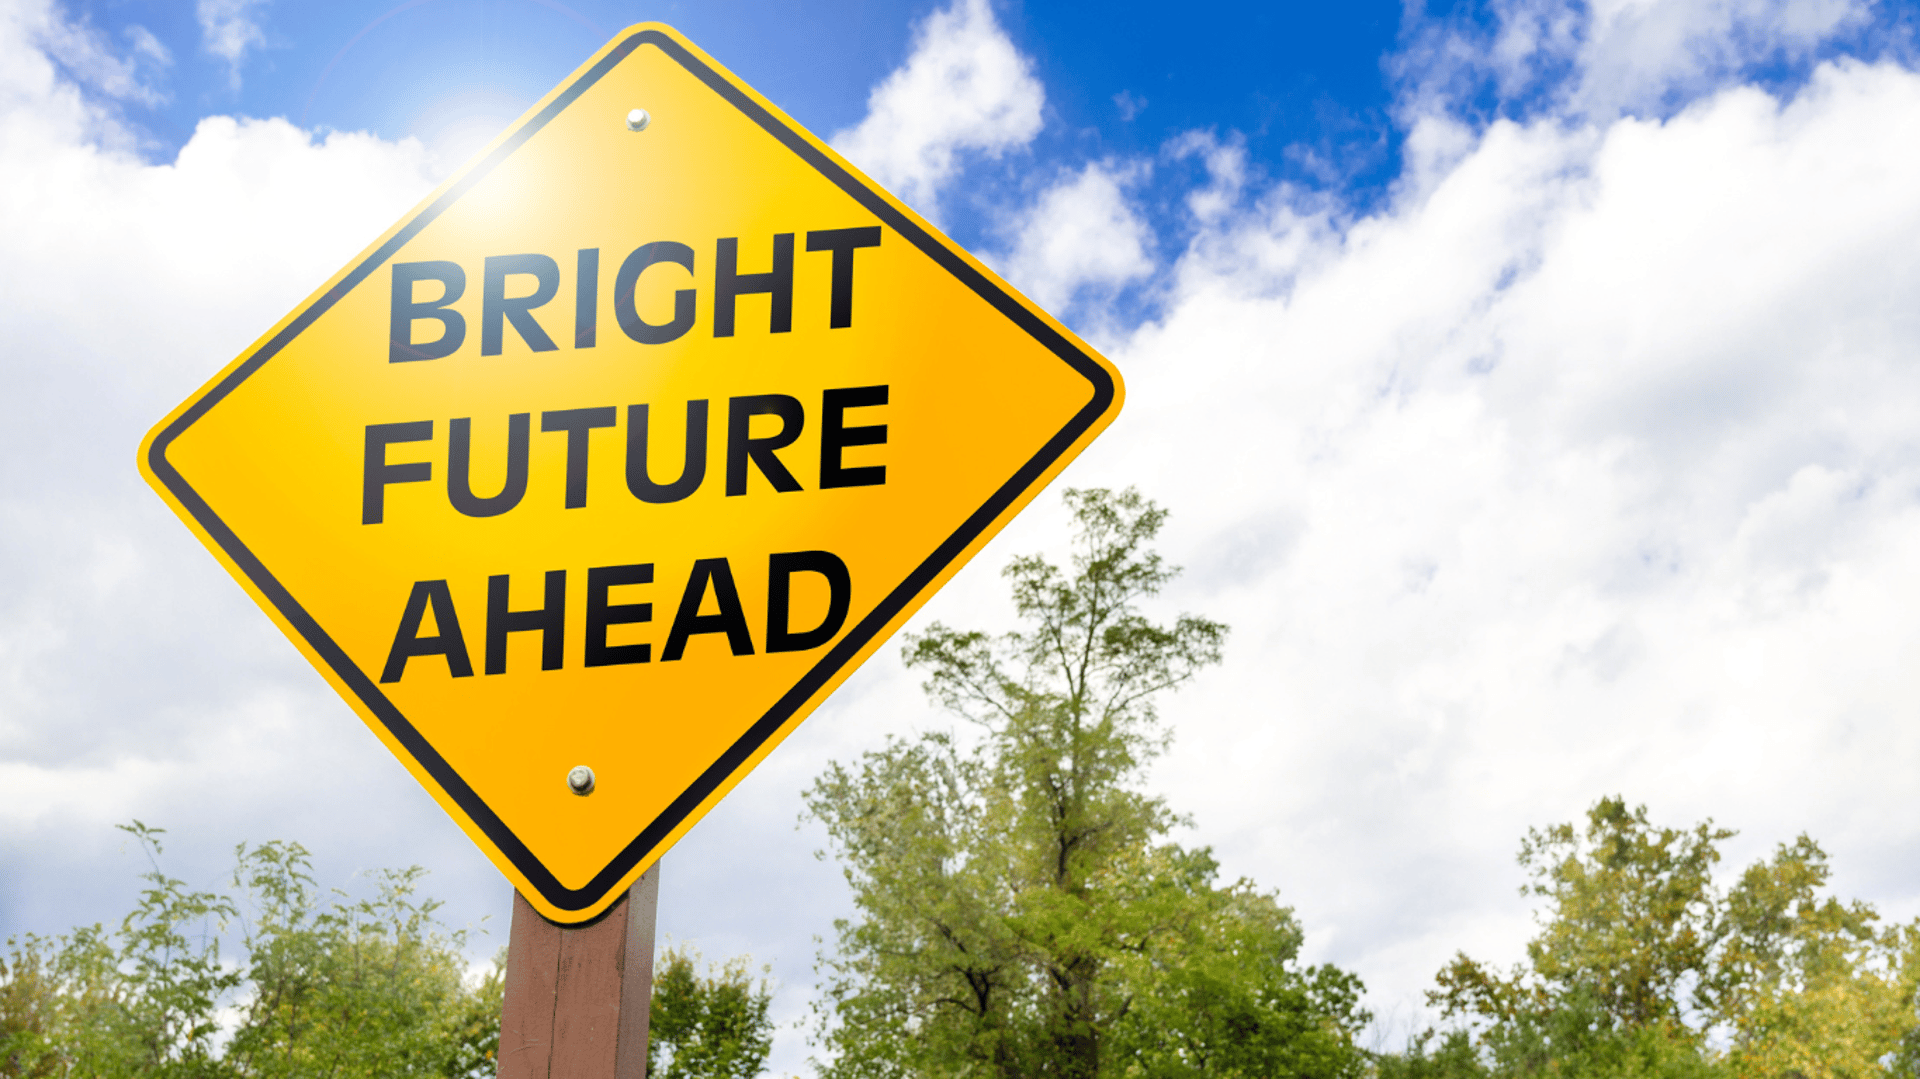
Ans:
<svg viewBox="0 0 1920 1079"><path fill-rule="evenodd" d="M509 889L134 470L146 428L620 27L674 23L1127 376L1064 486L1137 484L1235 630L1154 787L1375 1044L1513 854L1603 795L1797 833L1920 916L1916 8L0 0L0 933L217 883ZM1052 493L925 620L1004 628ZM847 910L799 793L945 724L883 649L662 864L660 931L772 964L806 1069Z"/></svg>

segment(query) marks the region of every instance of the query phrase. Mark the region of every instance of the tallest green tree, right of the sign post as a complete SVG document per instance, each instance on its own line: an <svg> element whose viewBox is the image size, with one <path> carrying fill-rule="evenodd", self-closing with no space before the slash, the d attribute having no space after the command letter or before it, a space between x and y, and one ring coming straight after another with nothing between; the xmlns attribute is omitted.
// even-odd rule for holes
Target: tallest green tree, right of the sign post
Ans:
<svg viewBox="0 0 1920 1079"><path fill-rule="evenodd" d="M1006 568L1018 632L931 626L906 662L970 722L889 739L808 791L858 918L822 956L835 1077L1348 1075L1359 983L1294 964L1271 893L1221 887L1139 789L1156 699L1219 662L1227 628L1156 624L1165 511L1068 492L1071 572Z"/></svg>

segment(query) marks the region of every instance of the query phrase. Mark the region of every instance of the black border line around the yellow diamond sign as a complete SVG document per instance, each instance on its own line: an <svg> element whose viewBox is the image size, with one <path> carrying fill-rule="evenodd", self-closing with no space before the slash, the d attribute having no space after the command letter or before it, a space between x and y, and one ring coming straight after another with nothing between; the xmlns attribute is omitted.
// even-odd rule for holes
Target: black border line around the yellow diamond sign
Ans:
<svg viewBox="0 0 1920 1079"><path fill-rule="evenodd" d="M580 94L589 86L599 83L614 65L634 54L643 44L651 44L685 67L693 77L712 88L716 94L726 98L733 108L745 113L749 119L758 123L768 134L778 138L783 146L799 154L808 165L820 171L824 177L833 180L843 192L852 196L860 205L870 209L879 217L889 228L899 232L902 238L920 248L927 257L939 263L947 273L954 275L960 282L972 288L981 300L991 303L996 311L1012 319L1021 330L1039 340L1048 351L1062 359L1068 367L1077 371L1092 384L1092 399L1073 415L1071 420L1058 434L1054 434L1046 444L1035 453L1025 465L1020 467L1014 476L1002 484L993 497L987 499L973 515L960 524L960 528L948 536L912 574L900 582L885 599L879 601L874 611L866 614L852 630L849 630L841 639L828 649L828 655L820 659L764 716L760 716L707 772L703 772L693 785L689 785L678 799L674 799L666 810L655 818L647 827L634 837L599 874L593 875L584 887L570 889L561 885L561 881L534 858L526 843L513 833L511 827L467 785L459 774L447 764L432 745L420 735L420 731L399 712L397 707L380 691L380 687L367 676L346 651L321 628L319 622L300 605L298 599L282 586L248 549L246 543L227 526L213 507L200 497L198 492L180 476L180 472L167 461L167 447L180 434L186 432L194 422L200 420L213 405L234 392L242 382L246 382L255 371L259 371L267 361L271 361L280 349L284 349L294 338L298 338L307 326L313 324L323 313L326 313L334 303L338 303L348 292L367 280L376 269L380 269L394 253L399 252L413 236L420 232L428 223L440 217L449 205L453 205L463 194L467 194L472 184L486 177L493 167L505 161L515 150L518 150L528 138L534 136L541 127L545 127L553 117L570 106ZM1114 380L1108 376L1106 369L1100 367L1092 357L1083 353L1068 338L1046 324L1044 319L1035 315L1023 303L1006 294L998 284L995 284L987 275L973 269L964 257L952 252L947 244L939 242L931 232L922 228L914 219L900 213L891 202L881 198L874 188L866 186L860 179L841 167L837 161L822 154L812 142L801 136L797 131L787 127L780 117L768 111L762 104L753 100L747 92L735 86L728 77L720 75L708 67L701 58L687 52L678 40L660 31L639 31L628 35L624 40L614 44L593 67L582 73L570 86L561 90L547 108L534 113L526 123L522 123L505 142L501 142L492 154L486 156L478 165L474 165L467 175L459 179L451 188L447 188L440 198L436 198L426 209L407 221L386 244L380 244L367 259L363 259L351 273L342 276L332 288L328 288L319 300L315 300L305 311L301 311L292 323L288 323L278 334L275 334L267 344L246 357L244 363L234 367L225 378L213 384L200 399L196 399L186 411L175 417L173 422L161 430L150 449L148 467L154 476L157 476L173 497L180 501L182 507L194 516L196 522L207 532L207 536L219 543L221 551L248 576L250 582L273 603L273 607L288 620L294 630L326 660L326 666L353 691L367 708L378 716L380 724L386 726L388 733L434 778L436 783L461 806L461 810L493 841L495 847L507 856L509 862L526 877L541 899L553 904L557 910L586 910L607 897L607 893L624 877L634 866L641 862L655 847L659 847L678 826L691 814L708 795L712 795L726 779L741 768L766 739L774 737L781 726L793 714L810 701L820 689L839 674L852 659L872 641L885 626L891 622L908 603L914 601L933 580L948 566L962 551L968 549L1002 513L1006 513L1014 501L1020 499L1033 484L1046 474L1046 470L1060 461L1060 457L1075 444L1102 415L1114 405Z"/></svg>

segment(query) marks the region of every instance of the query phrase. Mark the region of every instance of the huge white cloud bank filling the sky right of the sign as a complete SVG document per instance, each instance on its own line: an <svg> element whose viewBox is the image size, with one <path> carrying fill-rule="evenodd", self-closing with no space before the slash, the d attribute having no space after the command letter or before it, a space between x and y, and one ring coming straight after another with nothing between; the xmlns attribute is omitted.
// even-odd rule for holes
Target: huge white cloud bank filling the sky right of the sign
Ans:
<svg viewBox="0 0 1920 1079"><path fill-rule="evenodd" d="M1465 140L1344 227L1240 202L1114 349L1073 482L1162 492L1236 626L1175 803L1402 1016L1603 793L1920 912L1920 77Z"/></svg>

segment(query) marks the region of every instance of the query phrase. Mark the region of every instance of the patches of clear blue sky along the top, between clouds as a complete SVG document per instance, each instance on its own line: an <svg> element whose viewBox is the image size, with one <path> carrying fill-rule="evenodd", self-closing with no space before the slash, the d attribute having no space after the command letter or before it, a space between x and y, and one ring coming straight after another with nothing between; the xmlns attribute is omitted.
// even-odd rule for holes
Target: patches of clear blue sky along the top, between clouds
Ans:
<svg viewBox="0 0 1920 1079"><path fill-rule="evenodd" d="M205 8L205 6L202 6ZM868 92L912 48L912 29L937 4L824 0L720 0L624 4L611 0L403 0L390 4L228 2L227 44L173 0L75 0L83 25L132 46L150 33L163 60L140 58L148 100L123 102L150 156L177 152L205 115L286 117L324 131L367 131L470 146L566 75L616 29L666 21L701 42L816 132L864 115ZM1348 211L1379 205L1400 175L1405 104L1432 75L1438 38L1490 38L1524 4L996 4L998 23L1046 86L1046 127L1014 163L975 161L979 192L948 228L964 242L991 234L993 205L1008 188L1089 157L1148 156L1190 131L1244 140L1271 180L1334 190ZM1812 48L1759 48L1734 71L1789 90L1814 63L1839 56L1910 56L1914 0L1878 0ZM1536 115L1555 104L1569 61L1526 79L1488 69L1448 73L1457 115L1484 125ZM1670 115L1699 86L1638 100L1640 115ZM1396 115L1398 108L1398 115ZM1006 167L1000 167L1006 165ZM1160 177L1167 202L1190 175ZM1160 230L1164 205L1142 200ZM1152 213L1160 209L1162 213ZM1177 236L1167 236L1177 242Z"/></svg>

